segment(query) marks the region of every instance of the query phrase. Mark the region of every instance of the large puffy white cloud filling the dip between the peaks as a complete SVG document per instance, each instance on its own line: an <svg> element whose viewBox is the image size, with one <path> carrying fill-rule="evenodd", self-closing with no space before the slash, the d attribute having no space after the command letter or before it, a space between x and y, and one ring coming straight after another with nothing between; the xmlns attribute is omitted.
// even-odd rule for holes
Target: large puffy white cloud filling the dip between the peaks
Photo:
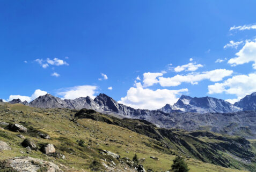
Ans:
<svg viewBox="0 0 256 172"><path fill-rule="evenodd" d="M125 104L134 108L147 110L156 110L165 104L174 104L182 92L188 89L168 90L168 89L145 89L141 83L135 83L135 87L131 87L127 91L127 95L122 97L118 103Z"/></svg>

